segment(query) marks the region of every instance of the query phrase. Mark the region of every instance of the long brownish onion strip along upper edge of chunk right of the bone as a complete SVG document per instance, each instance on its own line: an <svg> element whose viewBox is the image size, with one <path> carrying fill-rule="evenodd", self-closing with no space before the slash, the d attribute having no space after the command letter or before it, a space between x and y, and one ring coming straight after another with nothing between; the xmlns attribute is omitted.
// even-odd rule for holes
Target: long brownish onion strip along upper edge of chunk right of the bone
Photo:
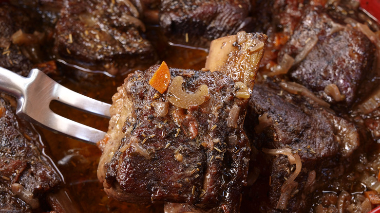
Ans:
<svg viewBox="0 0 380 213"><path fill-rule="evenodd" d="M292 94L298 94L298 95L303 95L306 97L309 97L311 100L315 101L317 104L324 106L324 107L330 107L330 105L323 101L322 99L318 98L317 96L314 95L310 90L302 86L301 84L297 84L295 82L281 82L280 87L284 89L287 92L290 92Z"/></svg>

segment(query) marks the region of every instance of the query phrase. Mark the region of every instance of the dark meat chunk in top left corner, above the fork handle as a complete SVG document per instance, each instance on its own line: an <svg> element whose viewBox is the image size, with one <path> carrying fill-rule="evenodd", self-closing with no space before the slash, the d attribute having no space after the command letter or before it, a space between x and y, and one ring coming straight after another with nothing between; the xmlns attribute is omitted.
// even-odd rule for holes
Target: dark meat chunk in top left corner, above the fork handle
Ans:
<svg viewBox="0 0 380 213"><path fill-rule="evenodd" d="M41 18L36 11L0 4L1 67L26 76L33 64L50 60L46 54L48 50L41 47L52 44L48 36L51 28L36 26L34 23L39 21ZM55 62L50 63L55 65Z"/></svg>

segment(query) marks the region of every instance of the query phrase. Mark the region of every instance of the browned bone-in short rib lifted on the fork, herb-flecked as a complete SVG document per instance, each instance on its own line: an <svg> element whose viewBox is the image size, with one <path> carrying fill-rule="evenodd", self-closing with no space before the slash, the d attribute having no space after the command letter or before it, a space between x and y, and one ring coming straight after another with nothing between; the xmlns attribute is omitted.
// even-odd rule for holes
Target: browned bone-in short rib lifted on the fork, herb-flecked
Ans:
<svg viewBox="0 0 380 213"><path fill-rule="evenodd" d="M238 212L250 151L243 130L248 88L266 36L242 32L240 44L237 37L233 50L226 48L235 60L227 57L222 67L209 63L223 72L170 69L171 83L162 94L151 86L152 76L162 69L158 65L125 79L113 96L109 131L99 142L103 153L98 178L108 195L128 202ZM253 50L253 41L263 45ZM228 64L252 69L245 75Z"/></svg>

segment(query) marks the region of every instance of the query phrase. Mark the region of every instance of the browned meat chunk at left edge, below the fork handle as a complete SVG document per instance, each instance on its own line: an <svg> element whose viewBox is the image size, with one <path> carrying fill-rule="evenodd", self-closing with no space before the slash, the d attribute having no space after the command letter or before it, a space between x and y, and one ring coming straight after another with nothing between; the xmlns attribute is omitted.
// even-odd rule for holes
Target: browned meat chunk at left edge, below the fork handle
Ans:
<svg viewBox="0 0 380 213"><path fill-rule="evenodd" d="M15 102L0 98L0 208L5 212L31 212L38 198L57 188L61 179L42 154L38 134L15 115Z"/></svg>

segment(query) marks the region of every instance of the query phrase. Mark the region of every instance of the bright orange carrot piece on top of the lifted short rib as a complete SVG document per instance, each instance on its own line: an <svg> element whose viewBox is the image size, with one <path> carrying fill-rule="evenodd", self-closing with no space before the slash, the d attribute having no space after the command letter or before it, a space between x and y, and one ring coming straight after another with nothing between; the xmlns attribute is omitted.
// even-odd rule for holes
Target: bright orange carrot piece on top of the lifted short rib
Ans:
<svg viewBox="0 0 380 213"><path fill-rule="evenodd" d="M161 66L154 72L149 84L159 91L161 94L168 89L170 83L170 71L168 65L165 61L162 62Z"/></svg>

